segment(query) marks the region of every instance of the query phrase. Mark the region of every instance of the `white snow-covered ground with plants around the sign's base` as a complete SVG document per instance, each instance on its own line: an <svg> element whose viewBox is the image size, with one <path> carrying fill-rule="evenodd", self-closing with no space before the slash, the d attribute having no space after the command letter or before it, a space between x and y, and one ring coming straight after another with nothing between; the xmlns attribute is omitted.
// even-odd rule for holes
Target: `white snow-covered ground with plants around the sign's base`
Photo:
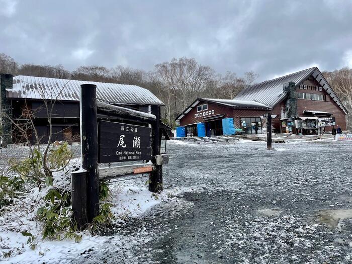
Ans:
<svg viewBox="0 0 352 264"><path fill-rule="evenodd" d="M71 160L70 169L79 166L79 159ZM133 177L132 177L133 178ZM54 174L54 187L64 187L70 184L69 170L66 173ZM138 217L152 206L168 200L167 196L172 192L166 191L159 195L150 193L147 189L146 178L112 182L109 184L111 190L112 209L117 218L116 224L128 221L129 218ZM66 263L68 258L75 258L77 255L90 248L99 247L109 237L92 236L89 232L82 232L82 240L75 243L74 240L65 239L61 241L41 240L42 228L37 224L35 215L39 207L43 206L43 198L47 188L41 191L34 188L22 201L16 201L16 206L0 216L0 248L2 255L11 253L9 257L0 256L0 262L6 263ZM118 230L116 227L114 230ZM28 236L21 232L29 232L38 238L34 241L35 248L27 243Z"/></svg>

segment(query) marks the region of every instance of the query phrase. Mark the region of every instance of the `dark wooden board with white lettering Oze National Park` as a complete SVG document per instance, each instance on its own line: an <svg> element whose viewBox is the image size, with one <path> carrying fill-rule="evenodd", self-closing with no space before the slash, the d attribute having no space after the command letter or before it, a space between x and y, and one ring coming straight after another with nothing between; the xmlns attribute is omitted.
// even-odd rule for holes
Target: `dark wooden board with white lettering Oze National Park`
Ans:
<svg viewBox="0 0 352 264"><path fill-rule="evenodd" d="M151 128L101 121L99 163L151 159Z"/></svg>

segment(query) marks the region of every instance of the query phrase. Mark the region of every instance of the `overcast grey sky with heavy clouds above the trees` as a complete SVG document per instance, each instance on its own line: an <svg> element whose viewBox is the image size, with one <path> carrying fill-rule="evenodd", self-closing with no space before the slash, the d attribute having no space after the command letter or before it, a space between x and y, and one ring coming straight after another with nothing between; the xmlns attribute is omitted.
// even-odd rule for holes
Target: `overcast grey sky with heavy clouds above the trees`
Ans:
<svg viewBox="0 0 352 264"><path fill-rule="evenodd" d="M0 0L0 53L19 63L152 70L194 57L259 80L352 67L352 1Z"/></svg>

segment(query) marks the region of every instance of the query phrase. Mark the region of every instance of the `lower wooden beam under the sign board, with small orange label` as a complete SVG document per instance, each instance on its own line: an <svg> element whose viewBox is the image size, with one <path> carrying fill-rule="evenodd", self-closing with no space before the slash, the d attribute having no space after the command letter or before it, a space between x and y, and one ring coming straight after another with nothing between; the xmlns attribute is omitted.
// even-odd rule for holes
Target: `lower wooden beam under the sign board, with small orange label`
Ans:
<svg viewBox="0 0 352 264"><path fill-rule="evenodd" d="M138 171L147 170L148 167L151 167L150 171L138 173ZM155 166L152 163L100 168L99 180L115 179L131 174L149 173L154 170Z"/></svg>

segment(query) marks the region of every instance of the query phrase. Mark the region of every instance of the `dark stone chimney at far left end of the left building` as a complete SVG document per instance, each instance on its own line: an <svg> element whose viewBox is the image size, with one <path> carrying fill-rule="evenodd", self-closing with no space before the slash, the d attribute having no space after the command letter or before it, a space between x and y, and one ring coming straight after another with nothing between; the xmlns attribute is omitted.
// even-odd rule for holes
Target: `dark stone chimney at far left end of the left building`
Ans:
<svg viewBox="0 0 352 264"><path fill-rule="evenodd" d="M12 101L6 98L6 89L12 89L13 76L12 74L0 73L0 107L1 107L1 135L3 147L12 144L12 123L6 117L12 118Z"/></svg>

